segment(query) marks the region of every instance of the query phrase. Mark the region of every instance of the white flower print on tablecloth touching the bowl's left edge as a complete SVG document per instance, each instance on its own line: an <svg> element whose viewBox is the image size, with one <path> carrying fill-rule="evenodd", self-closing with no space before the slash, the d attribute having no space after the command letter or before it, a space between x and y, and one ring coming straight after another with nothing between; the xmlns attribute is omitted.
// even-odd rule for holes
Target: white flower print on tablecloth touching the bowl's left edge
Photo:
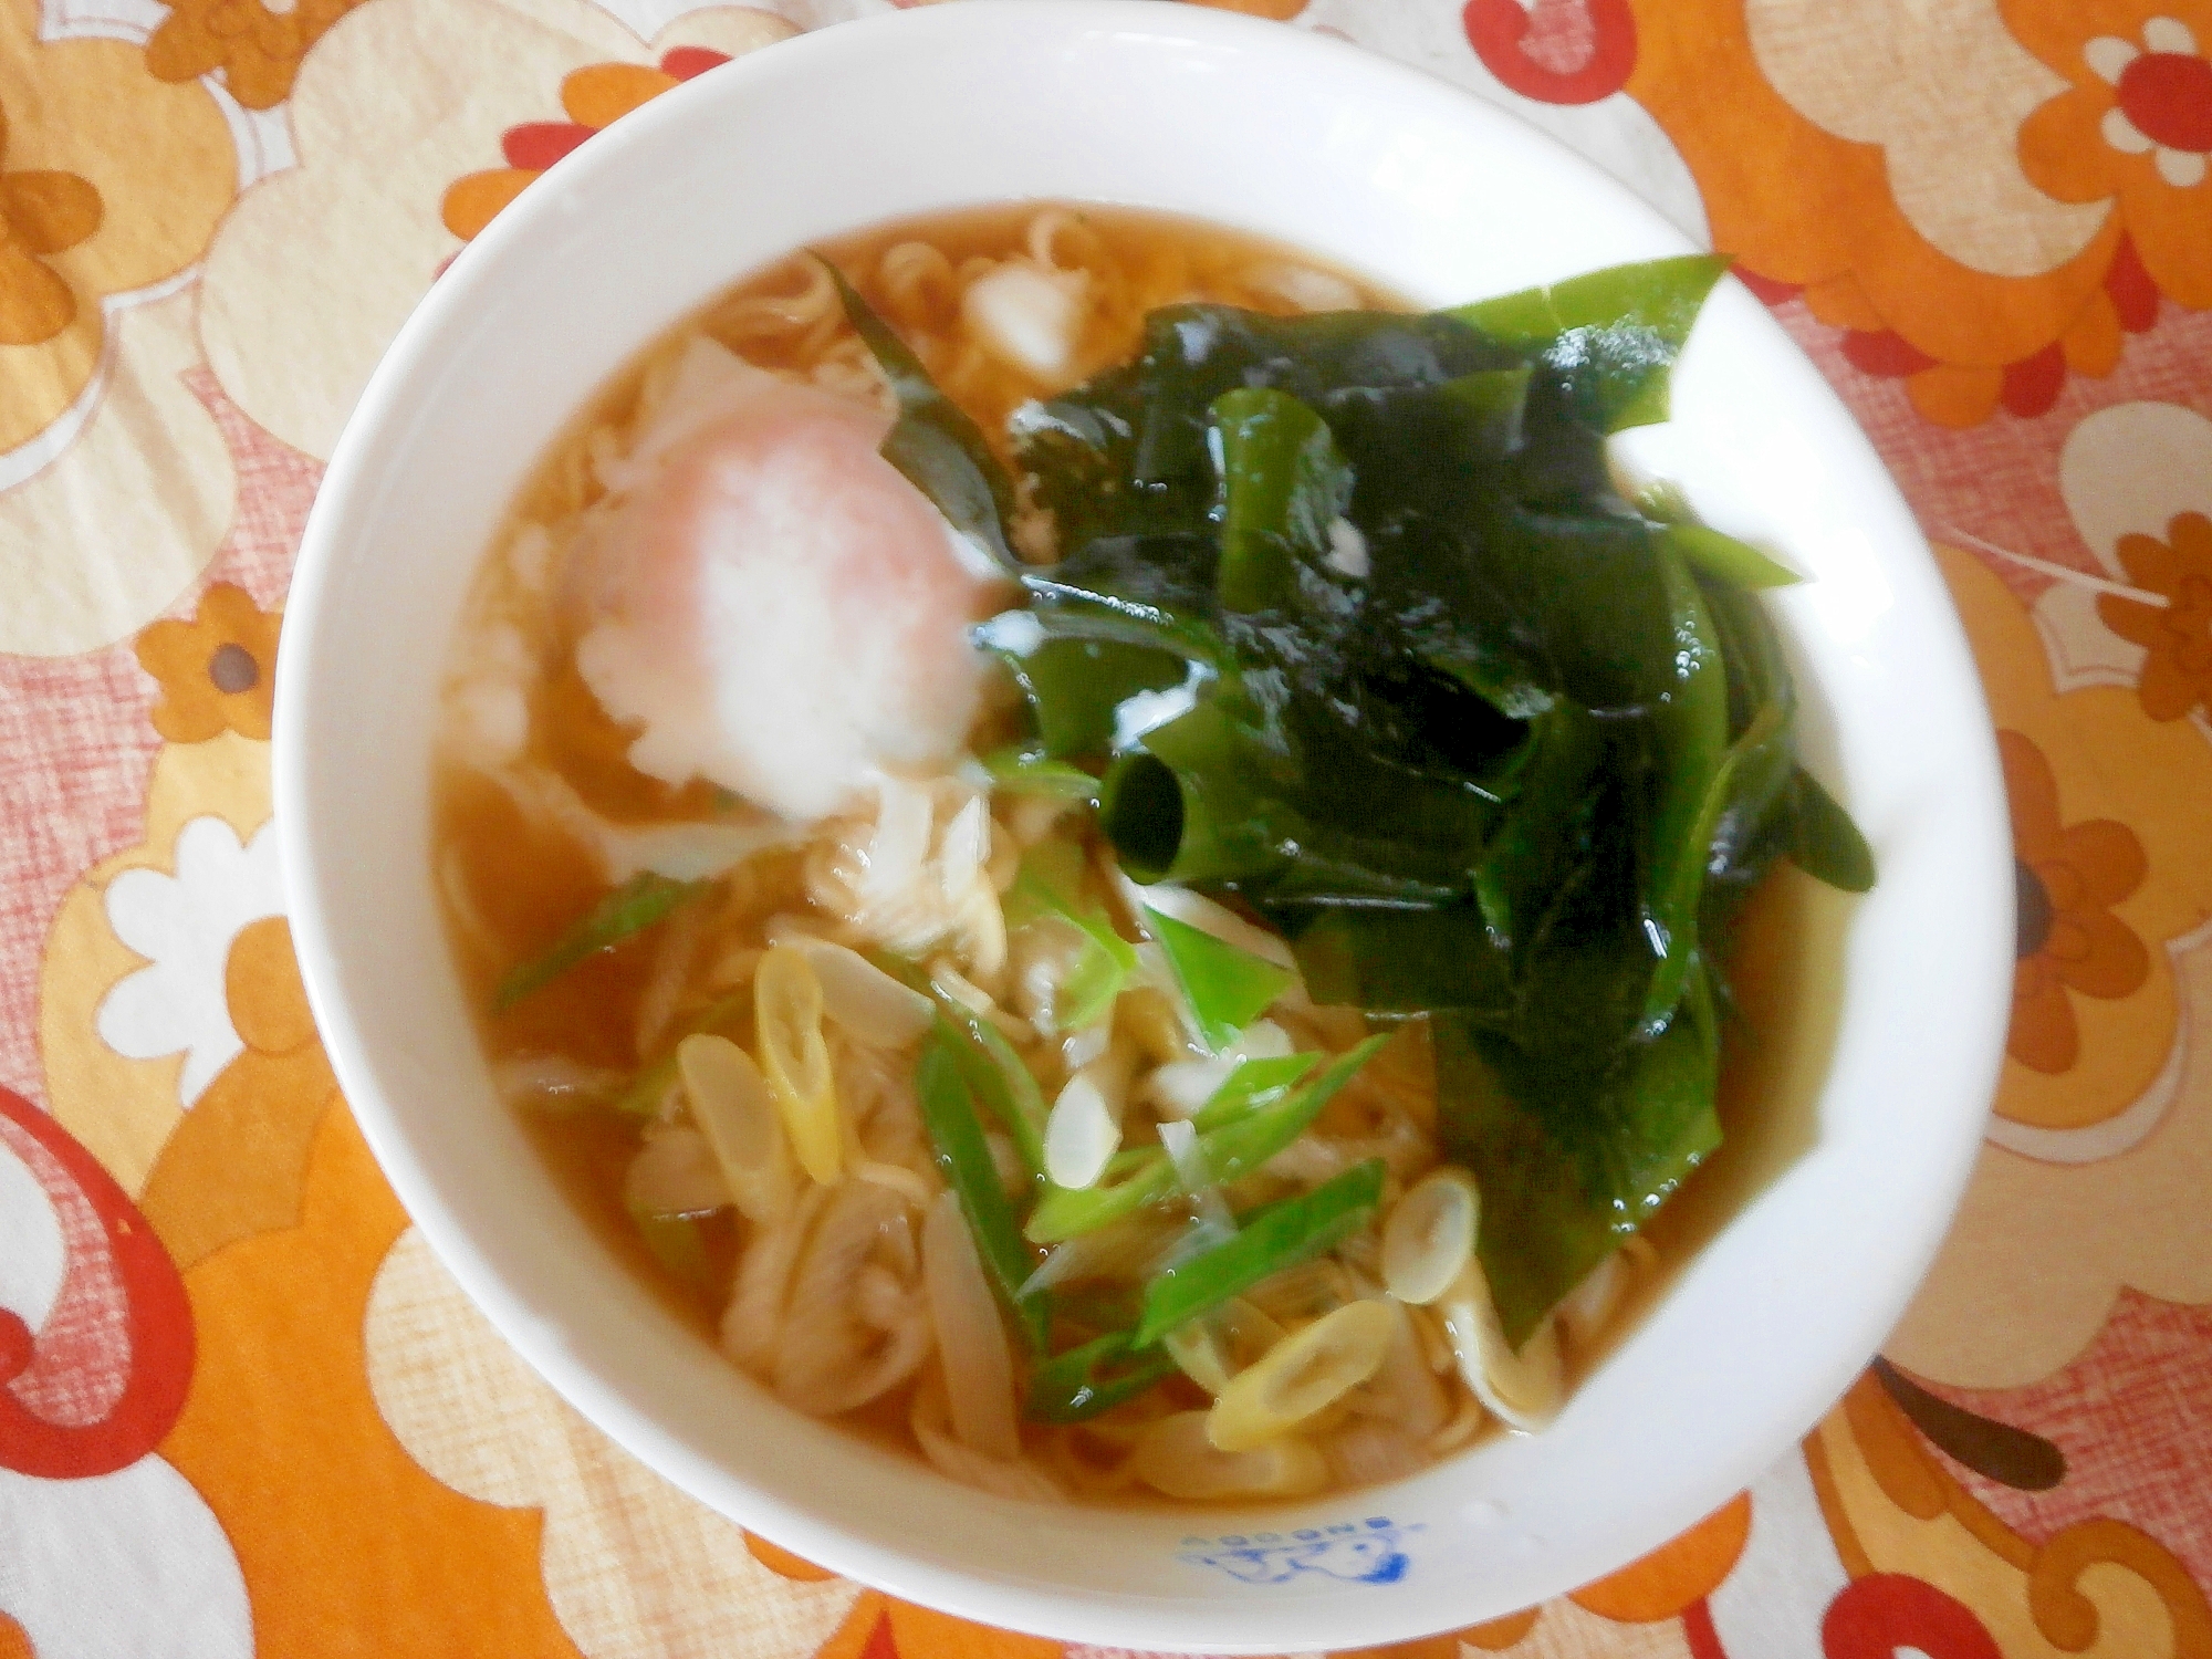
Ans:
<svg viewBox="0 0 2212 1659"><path fill-rule="evenodd" d="M128 1060L184 1053L177 1104L190 1106L246 1051L223 967L248 925L283 914L274 823L241 843L221 818L192 818L177 832L177 874L126 869L108 883L106 911L146 967L102 998L100 1040Z"/></svg>

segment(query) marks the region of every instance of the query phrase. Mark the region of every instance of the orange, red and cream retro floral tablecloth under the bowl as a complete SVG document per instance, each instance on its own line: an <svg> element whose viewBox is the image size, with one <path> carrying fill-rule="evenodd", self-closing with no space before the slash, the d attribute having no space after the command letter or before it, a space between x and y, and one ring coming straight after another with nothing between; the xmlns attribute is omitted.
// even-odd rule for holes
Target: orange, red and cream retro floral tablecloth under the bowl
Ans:
<svg viewBox="0 0 2212 1659"><path fill-rule="evenodd" d="M378 352L595 131L883 0L681 4L0 0L4 1659L1055 1648L584 1427L292 964L270 675ZM2013 801L2004 1082L1885 1358L1674 1544L1402 1652L2212 1659L2212 0L1239 4L1736 254L1936 540Z"/></svg>

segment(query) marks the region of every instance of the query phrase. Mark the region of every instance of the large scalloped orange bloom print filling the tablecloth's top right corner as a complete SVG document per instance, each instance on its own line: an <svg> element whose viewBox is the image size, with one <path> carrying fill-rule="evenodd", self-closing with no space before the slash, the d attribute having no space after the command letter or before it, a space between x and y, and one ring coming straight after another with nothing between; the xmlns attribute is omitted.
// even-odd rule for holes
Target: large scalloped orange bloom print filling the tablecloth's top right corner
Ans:
<svg viewBox="0 0 2212 1659"><path fill-rule="evenodd" d="M2008 117L2017 131L2002 161L1995 150L1971 166L1955 161L1940 188L1918 195L1893 170L1896 153L1840 131L1834 108L1792 102L1792 88L1767 73L1781 35L1759 35L1759 24L1778 31L1787 20L1796 53L1816 44L1803 31L1827 29L1823 69L1809 80L1878 88L1896 106L1891 131L1924 135L1936 122L1927 97L1989 93L1920 86L1878 69L1874 58L1933 73L1955 44L1933 18L1898 9L1874 24L1860 13L1745 0L1632 7L1628 93L1697 175L1717 246L1741 261L1736 274L1770 303L1803 294L1843 334L1845 358L1860 374L1902 380L1924 420L1973 427L2000 409L2048 414L2070 376L2119 365L2128 336L2154 327L2161 296L2212 305L2212 188L2197 184L2212 150L2212 9L2203 0L2004 4L2006 51L2031 53L2035 75L2055 71L2064 86ZM1991 27L1997 13L1986 9ZM1984 18L1984 9L1960 7L1951 24L1969 15ZM1867 60L1840 62L1838 51ZM1898 91L1909 84L1920 102ZM2015 75L2013 93L2024 84ZM1907 104L1920 115L1907 117ZM2046 217L2115 210L2093 230L2044 226L2046 252L2006 265L1975 257L1971 234L1942 246L1902 206L1931 192L1986 199L1978 223L2002 223L2000 190L2042 204ZM2073 234L2086 239L2073 243Z"/></svg>

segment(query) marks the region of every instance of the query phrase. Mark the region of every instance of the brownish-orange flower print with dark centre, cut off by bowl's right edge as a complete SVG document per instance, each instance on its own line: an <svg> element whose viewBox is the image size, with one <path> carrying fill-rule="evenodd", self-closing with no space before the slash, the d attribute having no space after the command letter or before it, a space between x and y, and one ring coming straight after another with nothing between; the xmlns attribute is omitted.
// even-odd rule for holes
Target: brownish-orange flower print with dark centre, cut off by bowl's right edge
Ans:
<svg viewBox="0 0 2212 1659"><path fill-rule="evenodd" d="M2150 951L2112 905L2143 885L2135 832L2110 818L2064 825L2051 761L2020 732L1997 732L2013 801L2020 942L2013 1026L2004 1046L2022 1066L2068 1071L2081 1053L2068 991L2117 1000L2150 978Z"/></svg>

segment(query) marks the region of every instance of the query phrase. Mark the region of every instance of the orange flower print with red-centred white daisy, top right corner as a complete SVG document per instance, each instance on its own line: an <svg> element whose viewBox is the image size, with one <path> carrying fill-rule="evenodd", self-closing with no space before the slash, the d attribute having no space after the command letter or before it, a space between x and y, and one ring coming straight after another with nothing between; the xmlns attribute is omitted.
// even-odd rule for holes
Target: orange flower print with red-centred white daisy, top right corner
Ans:
<svg viewBox="0 0 2212 1659"><path fill-rule="evenodd" d="M2073 82L2020 126L2020 164L2059 201L2117 201L2150 281L2212 305L2212 7L2028 7L2015 29Z"/></svg>

